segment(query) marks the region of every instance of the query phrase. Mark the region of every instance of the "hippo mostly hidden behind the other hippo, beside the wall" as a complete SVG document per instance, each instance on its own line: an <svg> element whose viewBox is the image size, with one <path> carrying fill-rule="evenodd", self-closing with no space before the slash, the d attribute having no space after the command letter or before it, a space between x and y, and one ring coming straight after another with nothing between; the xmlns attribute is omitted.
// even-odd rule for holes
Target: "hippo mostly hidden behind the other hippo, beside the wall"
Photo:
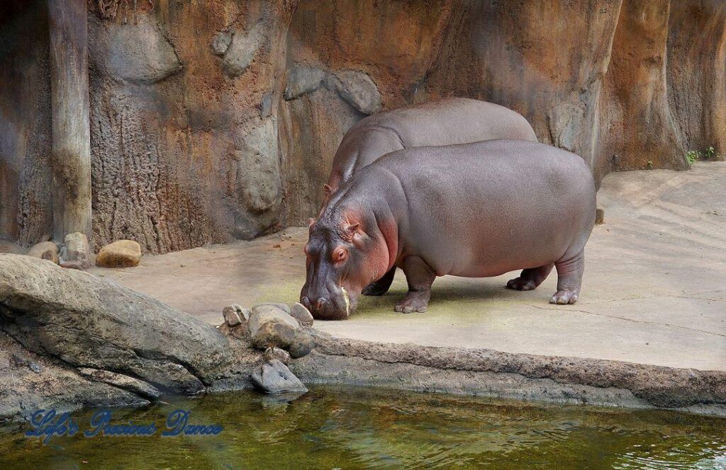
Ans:
<svg viewBox="0 0 726 470"><path fill-rule="evenodd" d="M360 120L343 136L325 185L325 199L341 184L383 155L412 147L469 144L494 139L537 141L531 125L513 110L469 98L445 98ZM396 269L363 289L364 295L383 295Z"/></svg>

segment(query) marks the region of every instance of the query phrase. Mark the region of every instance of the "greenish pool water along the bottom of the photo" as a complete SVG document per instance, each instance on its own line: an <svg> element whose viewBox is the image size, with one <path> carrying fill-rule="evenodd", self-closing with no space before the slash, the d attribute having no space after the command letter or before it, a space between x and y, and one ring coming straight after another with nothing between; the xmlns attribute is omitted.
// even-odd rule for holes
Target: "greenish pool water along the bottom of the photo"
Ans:
<svg viewBox="0 0 726 470"><path fill-rule="evenodd" d="M224 430L160 437L177 408ZM726 469L726 419L669 411L314 387L290 403L234 392L113 410L155 422L152 437L86 438L90 417L47 445L6 430L0 469Z"/></svg>

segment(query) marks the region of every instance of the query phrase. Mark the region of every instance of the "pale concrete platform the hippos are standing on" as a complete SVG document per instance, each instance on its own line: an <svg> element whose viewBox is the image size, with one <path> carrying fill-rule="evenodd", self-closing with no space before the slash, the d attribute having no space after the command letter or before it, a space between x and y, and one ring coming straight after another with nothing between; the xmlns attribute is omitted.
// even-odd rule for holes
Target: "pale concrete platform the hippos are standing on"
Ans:
<svg viewBox="0 0 726 470"><path fill-rule="evenodd" d="M587 245L576 305L550 305L556 275L532 292L498 278L438 279L427 313L393 312L399 271L386 296L363 297L353 318L316 322L335 337L506 353L574 356L726 371L726 162L688 172L613 173L598 202L605 224ZM115 279L211 323L231 303L295 302L307 231L145 256L138 268L92 273Z"/></svg>

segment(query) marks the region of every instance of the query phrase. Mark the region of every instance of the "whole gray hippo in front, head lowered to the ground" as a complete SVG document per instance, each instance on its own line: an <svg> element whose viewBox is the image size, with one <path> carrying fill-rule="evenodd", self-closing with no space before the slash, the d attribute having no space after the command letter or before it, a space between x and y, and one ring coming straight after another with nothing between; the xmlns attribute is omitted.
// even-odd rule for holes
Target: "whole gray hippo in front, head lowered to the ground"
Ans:
<svg viewBox="0 0 726 470"><path fill-rule="evenodd" d="M554 266L550 302L571 304L594 223L595 184L576 154L513 140L400 150L359 170L311 221L301 302L315 318L348 318L363 287L396 266L409 292L395 310L424 312L436 276L523 269L507 287L529 290Z"/></svg>

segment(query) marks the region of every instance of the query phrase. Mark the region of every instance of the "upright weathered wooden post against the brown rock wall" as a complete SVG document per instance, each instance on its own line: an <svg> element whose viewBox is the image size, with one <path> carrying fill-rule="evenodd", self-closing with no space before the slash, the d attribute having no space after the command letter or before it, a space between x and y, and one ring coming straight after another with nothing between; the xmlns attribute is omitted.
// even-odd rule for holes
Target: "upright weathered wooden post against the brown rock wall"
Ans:
<svg viewBox="0 0 726 470"><path fill-rule="evenodd" d="M91 235L91 136L86 0L48 0L53 236Z"/></svg>

